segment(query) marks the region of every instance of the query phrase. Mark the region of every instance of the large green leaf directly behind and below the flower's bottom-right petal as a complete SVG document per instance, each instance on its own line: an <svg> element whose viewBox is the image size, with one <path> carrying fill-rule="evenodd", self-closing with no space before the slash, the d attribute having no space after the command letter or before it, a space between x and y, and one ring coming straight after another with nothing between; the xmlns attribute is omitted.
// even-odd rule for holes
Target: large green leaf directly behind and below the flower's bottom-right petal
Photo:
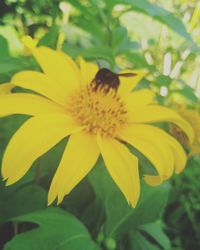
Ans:
<svg viewBox="0 0 200 250"><path fill-rule="evenodd" d="M158 220L166 205L169 184L151 187L141 181L141 196L136 208L131 208L112 180L100 159L88 175L96 197L103 202L106 213L106 237L115 238L141 225Z"/></svg>

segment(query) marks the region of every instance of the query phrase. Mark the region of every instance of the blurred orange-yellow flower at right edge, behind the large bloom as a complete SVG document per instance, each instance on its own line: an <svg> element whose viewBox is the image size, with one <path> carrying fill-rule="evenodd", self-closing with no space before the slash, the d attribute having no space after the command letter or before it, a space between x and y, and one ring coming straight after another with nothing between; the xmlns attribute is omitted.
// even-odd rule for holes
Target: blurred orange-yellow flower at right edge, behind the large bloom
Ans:
<svg viewBox="0 0 200 250"><path fill-rule="evenodd" d="M194 130L194 141L189 143L186 134L175 126L172 126L172 134L180 141L181 144L188 147L189 157L195 154L200 154L200 115L197 110L188 109L184 106L178 106L177 112L190 123L191 127Z"/></svg>

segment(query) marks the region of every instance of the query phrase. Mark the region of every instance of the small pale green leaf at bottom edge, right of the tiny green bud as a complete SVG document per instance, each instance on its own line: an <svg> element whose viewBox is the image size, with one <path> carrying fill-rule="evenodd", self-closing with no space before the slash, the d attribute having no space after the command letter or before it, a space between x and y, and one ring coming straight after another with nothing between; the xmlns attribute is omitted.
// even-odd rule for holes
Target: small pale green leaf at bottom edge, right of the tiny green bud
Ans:
<svg viewBox="0 0 200 250"><path fill-rule="evenodd" d="M141 230L149 234L163 249L171 249L171 242L167 235L163 232L161 222L146 224L140 227Z"/></svg>

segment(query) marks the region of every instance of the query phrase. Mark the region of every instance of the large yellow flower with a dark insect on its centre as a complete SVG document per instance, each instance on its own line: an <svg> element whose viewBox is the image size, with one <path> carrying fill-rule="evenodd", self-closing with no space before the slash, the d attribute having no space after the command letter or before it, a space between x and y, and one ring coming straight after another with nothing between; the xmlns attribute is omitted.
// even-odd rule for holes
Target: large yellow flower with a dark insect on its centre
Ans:
<svg viewBox="0 0 200 250"><path fill-rule="evenodd" d="M128 203L136 206L140 194L138 159L125 142L155 166L158 175L145 176L152 185L184 168L186 155L180 144L149 123L173 122L191 141L193 130L173 110L153 105L150 90L131 92L144 76L143 71L128 71L136 75L119 76L119 87L116 82L109 87L110 75L106 75L106 70L102 75L95 64L80 59L77 66L68 55L46 47L34 48L32 54L43 73L23 71L14 75L11 82L37 94L0 97L3 107L0 116L32 116L12 137L5 151L2 175L7 185L22 178L38 157L67 136L68 144L51 183L49 204L56 198L60 203L101 154ZM105 78L103 81L101 77L94 81L97 72Z"/></svg>

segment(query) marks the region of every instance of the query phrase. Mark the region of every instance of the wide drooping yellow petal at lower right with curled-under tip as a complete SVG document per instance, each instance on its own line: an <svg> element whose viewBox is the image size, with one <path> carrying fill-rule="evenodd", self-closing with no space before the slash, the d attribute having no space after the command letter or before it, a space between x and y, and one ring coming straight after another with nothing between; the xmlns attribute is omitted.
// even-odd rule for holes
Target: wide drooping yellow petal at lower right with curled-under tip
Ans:
<svg viewBox="0 0 200 250"><path fill-rule="evenodd" d="M181 145L165 131L150 125L132 125L121 132L120 138L141 151L156 167L159 176L146 176L148 183L161 183L179 173L186 164ZM155 178L156 177L156 178Z"/></svg>

